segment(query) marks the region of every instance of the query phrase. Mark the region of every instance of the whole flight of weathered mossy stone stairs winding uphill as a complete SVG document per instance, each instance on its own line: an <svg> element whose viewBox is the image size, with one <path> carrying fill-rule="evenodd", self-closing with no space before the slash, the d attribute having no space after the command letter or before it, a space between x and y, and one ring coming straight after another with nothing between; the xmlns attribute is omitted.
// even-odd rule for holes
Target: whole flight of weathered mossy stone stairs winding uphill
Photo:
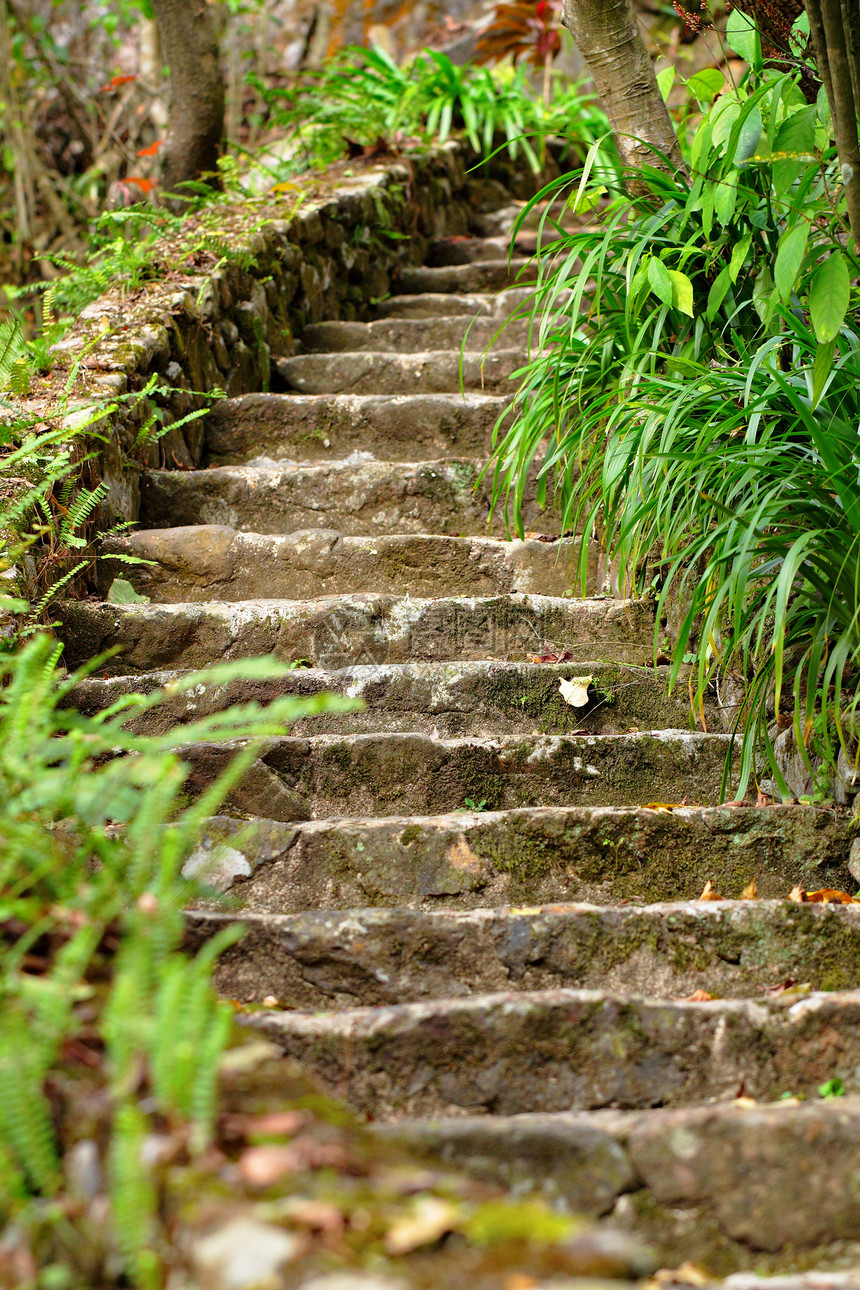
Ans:
<svg viewBox="0 0 860 1290"><path fill-rule="evenodd" d="M845 823L719 806L727 735L667 694L652 605L606 593L597 551L580 599L587 538L534 490L531 537L489 528L526 329L482 351L534 279L534 245L507 246L432 243L373 321L309 326L279 392L217 405L206 468L146 475L111 550L157 561L128 574L151 602L63 606L72 662L121 646L76 700L263 653L306 666L144 728L361 698L269 740L192 860L236 902L190 912L192 939L250 929L219 987L380 1133L611 1215L669 1265L850 1265L860 1100L816 1090L860 1093L860 921L784 899L851 884ZM202 786L230 751L188 756Z"/></svg>

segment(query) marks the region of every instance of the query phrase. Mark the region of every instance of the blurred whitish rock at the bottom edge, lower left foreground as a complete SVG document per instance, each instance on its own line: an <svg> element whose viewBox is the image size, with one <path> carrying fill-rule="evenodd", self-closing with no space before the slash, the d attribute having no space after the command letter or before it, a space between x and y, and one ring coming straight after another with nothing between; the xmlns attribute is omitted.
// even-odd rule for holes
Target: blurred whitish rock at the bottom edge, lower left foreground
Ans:
<svg viewBox="0 0 860 1290"><path fill-rule="evenodd" d="M304 1250L304 1241L273 1223L240 1216L193 1245L200 1290L279 1290L280 1273Z"/></svg>

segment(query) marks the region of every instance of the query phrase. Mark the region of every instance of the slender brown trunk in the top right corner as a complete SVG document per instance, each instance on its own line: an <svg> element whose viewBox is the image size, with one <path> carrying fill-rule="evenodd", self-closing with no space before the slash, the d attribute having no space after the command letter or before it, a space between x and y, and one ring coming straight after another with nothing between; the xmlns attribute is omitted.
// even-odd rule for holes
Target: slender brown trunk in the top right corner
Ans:
<svg viewBox="0 0 860 1290"><path fill-rule="evenodd" d="M806 0L819 76L830 104L833 134L842 169L848 223L860 241L860 37L857 0Z"/></svg>

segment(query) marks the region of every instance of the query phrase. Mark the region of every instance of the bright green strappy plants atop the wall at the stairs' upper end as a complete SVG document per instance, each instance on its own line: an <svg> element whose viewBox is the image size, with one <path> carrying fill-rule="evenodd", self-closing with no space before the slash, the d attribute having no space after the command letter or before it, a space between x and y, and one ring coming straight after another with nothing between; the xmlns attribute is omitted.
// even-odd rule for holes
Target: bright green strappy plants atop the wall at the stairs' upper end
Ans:
<svg viewBox="0 0 860 1290"><path fill-rule="evenodd" d="M485 155L502 137L512 157L522 151L539 170L549 134L588 146L607 130L603 114L575 85L544 103L525 68L459 67L432 49L404 64L379 48L347 49L294 89L257 88L295 141L288 164L293 173L340 160L347 139L365 146L398 135L445 142L453 130Z"/></svg>

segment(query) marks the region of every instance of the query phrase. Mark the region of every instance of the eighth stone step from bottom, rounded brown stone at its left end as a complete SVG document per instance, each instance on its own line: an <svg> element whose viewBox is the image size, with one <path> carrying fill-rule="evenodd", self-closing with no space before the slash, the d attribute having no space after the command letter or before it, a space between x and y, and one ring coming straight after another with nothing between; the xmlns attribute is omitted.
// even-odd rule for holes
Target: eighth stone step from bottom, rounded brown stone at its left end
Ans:
<svg viewBox="0 0 860 1290"><path fill-rule="evenodd" d="M138 592L161 602L275 596L312 600L356 590L423 597L504 592L570 596L576 591L579 542L432 534L356 538L334 529L279 535L192 524L108 538L102 552L157 561L155 566L124 565L121 571ZM592 553L587 592L596 595L603 584L596 543ZM101 561L104 593L116 570L113 560Z"/></svg>

